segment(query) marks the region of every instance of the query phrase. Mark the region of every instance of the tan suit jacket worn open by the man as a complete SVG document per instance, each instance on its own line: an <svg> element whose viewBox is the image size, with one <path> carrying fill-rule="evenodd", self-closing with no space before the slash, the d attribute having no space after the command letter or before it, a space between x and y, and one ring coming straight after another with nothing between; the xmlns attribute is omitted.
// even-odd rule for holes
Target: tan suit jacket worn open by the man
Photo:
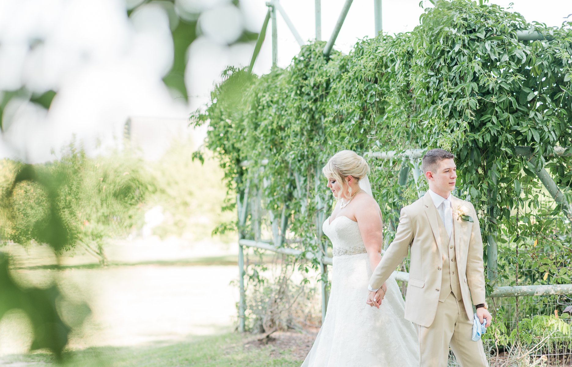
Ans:
<svg viewBox="0 0 572 367"><path fill-rule="evenodd" d="M451 195L452 207L462 207L474 222L466 222L453 212L456 267L468 318L472 320L472 301L485 301L483 242L474 206ZM439 234L439 216L427 192L423 198L401 210L399 226L392 242L375 268L370 285L383 285L411 249L405 318L429 327L435 319L442 281L443 256ZM447 241L448 242L448 241Z"/></svg>

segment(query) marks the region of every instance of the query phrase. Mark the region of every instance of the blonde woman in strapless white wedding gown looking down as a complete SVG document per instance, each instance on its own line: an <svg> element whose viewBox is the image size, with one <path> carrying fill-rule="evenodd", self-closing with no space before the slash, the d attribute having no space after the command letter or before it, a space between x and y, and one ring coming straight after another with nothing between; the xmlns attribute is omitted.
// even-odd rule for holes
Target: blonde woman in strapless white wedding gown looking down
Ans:
<svg viewBox="0 0 572 367"><path fill-rule="evenodd" d="M324 323L302 367L418 366L417 333L404 319L394 277L382 286L383 302L363 301L383 242L382 214L367 178L370 167L355 152L341 151L322 172L338 199L323 224L333 244L332 288Z"/></svg>

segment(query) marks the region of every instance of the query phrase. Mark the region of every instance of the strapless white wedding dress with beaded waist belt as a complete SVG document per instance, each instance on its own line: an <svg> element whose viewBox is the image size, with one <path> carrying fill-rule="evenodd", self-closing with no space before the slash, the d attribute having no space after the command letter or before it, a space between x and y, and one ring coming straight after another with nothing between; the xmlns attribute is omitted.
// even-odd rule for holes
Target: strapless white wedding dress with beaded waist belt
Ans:
<svg viewBox="0 0 572 367"><path fill-rule="evenodd" d="M339 216L323 225L333 244L328 310L302 367L417 367L419 342L404 319L402 294L394 277L378 308L366 304L370 259L358 223Z"/></svg>

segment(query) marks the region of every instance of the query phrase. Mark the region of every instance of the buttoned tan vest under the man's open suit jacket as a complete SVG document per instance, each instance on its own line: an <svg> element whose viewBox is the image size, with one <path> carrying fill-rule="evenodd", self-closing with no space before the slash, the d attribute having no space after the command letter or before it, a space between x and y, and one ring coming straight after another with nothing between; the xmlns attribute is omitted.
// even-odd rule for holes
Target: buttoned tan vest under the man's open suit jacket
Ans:
<svg viewBox="0 0 572 367"><path fill-rule="evenodd" d="M437 222L439 223L441 252L443 255L443 277L441 280L439 301L445 302L445 299L447 299L451 292L455 295L455 298L460 301L463 296L461 295L459 271L457 271L457 259L455 255L455 226L453 226L451 230L451 238L449 238L440 215L437 215Z"/></svg>

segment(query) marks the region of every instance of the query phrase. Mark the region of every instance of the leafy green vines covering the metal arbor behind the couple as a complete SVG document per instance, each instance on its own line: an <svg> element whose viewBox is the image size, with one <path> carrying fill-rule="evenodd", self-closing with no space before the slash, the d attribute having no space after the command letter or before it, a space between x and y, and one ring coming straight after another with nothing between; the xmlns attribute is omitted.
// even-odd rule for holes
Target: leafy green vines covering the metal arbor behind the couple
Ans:
<svg viewBox="0 0 572 367"><path fill-rule="evenodd" d="M518 41L516 31L528 29L549 40ZM499 254L528 246L511 257L521 269L542 265L559 277L549 281L570 282L570 236L562 237L570 222L554 220L562 203L543 203L529 158L515 156L516 145L531 147L537 168L546 167L571 202L572 160L552 155L572 139L570 40L568 23L547 27L497 5L441 0L411 33L366 38L349 55L324 58L324 42L315 42L268 75L229 68L193 121L209 125L206 147L220 159L229 198L252 208L239 228L244 238L276 234L272 224L284 213L290 225L279 235L299 240L284 246L320 253L333 205L320 173L329 157L440 147L456 155L456 195L479 211L483 239L498 242ZM369 163L388 243L399 209L427 189L411 175L398 184L400 169L415 161ZM499 257L501 273L507 258ZM259 282L258 267L247 268L248 286Z"/></svg>

